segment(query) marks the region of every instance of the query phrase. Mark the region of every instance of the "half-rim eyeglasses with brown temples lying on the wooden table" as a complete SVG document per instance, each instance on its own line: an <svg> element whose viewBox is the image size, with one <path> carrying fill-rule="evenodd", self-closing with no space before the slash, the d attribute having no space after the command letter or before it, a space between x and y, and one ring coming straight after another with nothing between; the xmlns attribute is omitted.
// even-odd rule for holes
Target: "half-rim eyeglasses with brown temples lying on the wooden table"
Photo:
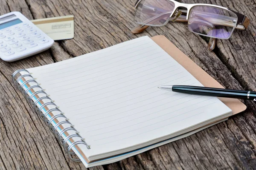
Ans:
<svg viewBox="0 0 256 170"><path fill-rule="evenodd" d="M187 8L181 10L180 7ZM249 18L222 6L211 4L186 4L175 0L137 0L135 22L131 30L138 34L149 26L164 26L169 20L188 22L189 31L210 37L208 49L215 48L215 38L229 39L234 29L245 30Z"/></svg>

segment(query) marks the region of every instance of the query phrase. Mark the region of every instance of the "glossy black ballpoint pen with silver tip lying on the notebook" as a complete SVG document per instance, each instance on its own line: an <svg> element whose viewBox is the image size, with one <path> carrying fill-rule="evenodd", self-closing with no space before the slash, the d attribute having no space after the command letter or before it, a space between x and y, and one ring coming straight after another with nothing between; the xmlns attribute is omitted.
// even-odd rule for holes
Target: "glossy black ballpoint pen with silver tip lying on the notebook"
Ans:
<svg viewBox="0 0 256 170"><path fill-rule="evenodd" d="M188 85L161 85L158 88L186 94L227 97L236 99L250 99L256 102L256 91L230 90L224 88L207 88Z"/></svg>

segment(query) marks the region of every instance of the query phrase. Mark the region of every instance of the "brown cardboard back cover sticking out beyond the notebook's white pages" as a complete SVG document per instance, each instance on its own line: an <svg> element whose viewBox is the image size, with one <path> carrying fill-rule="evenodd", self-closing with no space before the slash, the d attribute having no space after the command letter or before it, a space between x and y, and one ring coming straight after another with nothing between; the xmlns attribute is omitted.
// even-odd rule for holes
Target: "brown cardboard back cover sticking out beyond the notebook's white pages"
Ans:
<svg viewBox="0 0 256 170"><path fill-rule="evenodd" d="M166 51L172 58L174 58L180 65L182 65L190 74L192 74L199 82L206 87L224 88L220 83L213 79L207 72L200 68L195 62L187 57L180 51L172 42L170 42L163 35L158 35L151 38L156 42L164 51ZM235 115L246 109L246 105L238 99L219 98L227 107L232 110Z"/></svg>

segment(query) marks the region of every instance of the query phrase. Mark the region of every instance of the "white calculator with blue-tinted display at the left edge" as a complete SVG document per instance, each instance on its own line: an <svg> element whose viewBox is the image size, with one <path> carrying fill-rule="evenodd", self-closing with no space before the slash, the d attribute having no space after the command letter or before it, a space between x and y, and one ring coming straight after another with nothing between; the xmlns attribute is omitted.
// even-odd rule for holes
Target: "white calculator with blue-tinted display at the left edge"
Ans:
<svg viewBox="0 0 256 170"><path fill-rule="evenodd" d="M12 62L47 50L54 41L20 12L0 16L0 58Z"/></svg>

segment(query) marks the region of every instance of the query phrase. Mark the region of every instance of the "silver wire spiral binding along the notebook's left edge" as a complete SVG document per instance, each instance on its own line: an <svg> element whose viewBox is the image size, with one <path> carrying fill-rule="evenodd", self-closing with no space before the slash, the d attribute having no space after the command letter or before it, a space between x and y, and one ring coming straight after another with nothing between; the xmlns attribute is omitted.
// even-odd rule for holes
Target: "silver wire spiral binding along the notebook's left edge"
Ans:
<svg viewBox="0 0 256 170"><path fill-rule="evenodd" d="M16 80L15 80L15 76L17 74L19 74L21 71L23 72L27 72L27 74L23 74L20 75ZM22 81L21 84L19 84L20 80L24 77L30 77L31 79L26 80L26 81ZM56 139L58 139L58 142L60 142L60 144L64 147L65 152L68 153L70 159L72 159L73 161L81 161L79 158L73 158L73 155L76 155L76 153L73 151L73 147L76 147L76 145L78 144L84 144L87 149L90 149L90 146L84 141L84 139L79 135L79 132L73 127L73 125L68 121L67 117L64 116L64 114L58 109L58 106L55 105L55 103L52 101L52 99L49 98L49 95L47 95L47 93L44 91L43 88L40 87L40 85L38 84L38 82L36 82L36 80L31 76L31 74L29 73L29 71L27 71L26 69L20 69L15 71L12 74L12 82L17 86L17 88L22 92L23 96L25 97L26 101L31 105L32 108L34 108L35 112L38 114L38 116L41 117L41 119L44 120L44 122L48 125L48 127L50 128L50 130L52 131L52 133L54 134L54 136L56 137ZM24 88L24 86L26 84L28 84L29 82L34 82L36 85L32 85L28 88ZM34 91L35 88L40 89L39 91ZM31 95L29 96L29 91L31 92L31 90L33 90L34 92L31 93ZM36 98L35 101L33 101L33 98L38 95L38 94L44 94L45 96L43 97L39 97ZM40 107L38 107L38 103L42 102L43 99L48 99L50 102L46 102L44 104L42 104ZM49 105L54 106L54 108L52 109L48 109L45 113L43 113L43 109ZM52 116L50 119L47 118L47 116L49 116L49 114L53 111L57 111L59 112L59 114L56 114L54 116ZM54 121L54 119L56 118L64 118L64 121L58 122L55 125L52 125L52 122ZM58 128L61 125L64 124L68 124L70 127L67 128L63 128L61 129L60 132L58 132ZM76 132L75 134L72 135L68 135L65 138L63 138L62 136L65 134L67 134L67 131L72 130L73 132ZM80 138L79 141L73 141L70 142L70 139L72 138ZM68 144L68 142L70 142L70 144Z"/></svg>

